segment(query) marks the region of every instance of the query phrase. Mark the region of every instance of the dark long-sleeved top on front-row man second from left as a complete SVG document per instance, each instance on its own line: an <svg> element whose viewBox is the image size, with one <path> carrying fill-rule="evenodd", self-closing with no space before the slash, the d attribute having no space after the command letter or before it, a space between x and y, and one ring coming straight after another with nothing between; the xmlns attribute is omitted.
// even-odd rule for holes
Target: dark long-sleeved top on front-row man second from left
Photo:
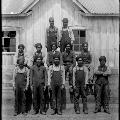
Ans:
<svg viewBox="0 0 120 120"><path fill-rule="evenodd" d="M34 65L30 69L30 85L36 86L39 83L47 85L47 70L44 66Z"/></svg>

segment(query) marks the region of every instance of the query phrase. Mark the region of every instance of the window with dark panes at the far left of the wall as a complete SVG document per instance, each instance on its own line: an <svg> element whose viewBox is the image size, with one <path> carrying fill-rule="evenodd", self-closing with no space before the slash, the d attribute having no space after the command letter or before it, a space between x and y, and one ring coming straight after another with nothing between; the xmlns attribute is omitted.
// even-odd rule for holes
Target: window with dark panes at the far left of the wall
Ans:
<svg viewBox="0 0 120 120"><path fill-rule="evenodd" d="M2 52L16 52L16 31L2 31Z"/></svg>

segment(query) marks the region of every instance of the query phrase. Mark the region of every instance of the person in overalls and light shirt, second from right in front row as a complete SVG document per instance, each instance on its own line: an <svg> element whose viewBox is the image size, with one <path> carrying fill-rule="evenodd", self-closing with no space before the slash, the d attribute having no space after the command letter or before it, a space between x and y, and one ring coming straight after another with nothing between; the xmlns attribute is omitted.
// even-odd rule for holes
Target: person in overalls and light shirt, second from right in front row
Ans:
<svg viewBox="0 0 120 120"><path fill-rule="evenodd" d="M79 97L81 95L83 112L84 114L88 114L87 96L85 92L88 70L85 66L83 66L83 58L81 55L76 57L76 61L78 65L73 68L74 109L76 114L80 114Z"/></svg>

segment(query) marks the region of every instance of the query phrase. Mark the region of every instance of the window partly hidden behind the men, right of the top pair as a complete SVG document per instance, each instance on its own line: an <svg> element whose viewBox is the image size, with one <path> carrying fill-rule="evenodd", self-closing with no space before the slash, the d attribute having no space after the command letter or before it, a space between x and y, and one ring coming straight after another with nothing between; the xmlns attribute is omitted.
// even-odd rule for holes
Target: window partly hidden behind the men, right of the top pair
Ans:
<svg viewBox="0 0 120 120"><path fill-rule="evenodd" d="M73 29L75 41L73 42L73 50L79 52L82 50L82 43L86 41L86 31L80 29Z"/></svg>

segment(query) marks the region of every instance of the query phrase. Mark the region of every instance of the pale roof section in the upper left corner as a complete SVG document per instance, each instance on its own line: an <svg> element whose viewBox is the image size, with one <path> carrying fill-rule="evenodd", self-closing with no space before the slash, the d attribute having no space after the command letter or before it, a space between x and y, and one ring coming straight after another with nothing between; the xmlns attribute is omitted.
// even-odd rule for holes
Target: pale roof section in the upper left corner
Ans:
<svg viewBox="0 0 120 120"><path fill-rule="evenodd" d="M35 0L2 0L2 14L18 14Z"/></svg>

